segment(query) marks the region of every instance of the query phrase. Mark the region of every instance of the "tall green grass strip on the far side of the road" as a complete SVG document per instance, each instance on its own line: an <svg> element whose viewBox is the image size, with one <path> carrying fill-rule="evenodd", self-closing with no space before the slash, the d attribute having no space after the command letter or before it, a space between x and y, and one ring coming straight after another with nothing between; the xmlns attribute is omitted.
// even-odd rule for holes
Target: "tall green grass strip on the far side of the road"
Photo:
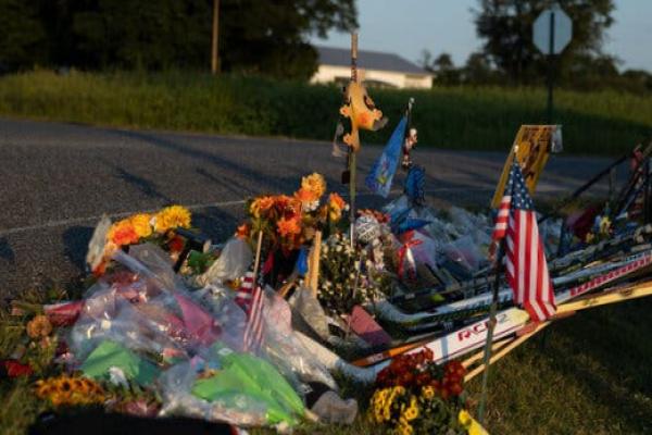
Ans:
<svg viewBox="0 0 652 435"><path fill-rule="evenodd" d="M521 124L544 121L546 91L535 88L372 89L390 117L384 142L410 97L422 144L449 149L504 150ZM652 97L627 92L555 95L567 152L615 154L645 139ZM201 73L37 71L0 77L0 115L98 125L284 136L329 140L341 103L335 86Z"/></svg>

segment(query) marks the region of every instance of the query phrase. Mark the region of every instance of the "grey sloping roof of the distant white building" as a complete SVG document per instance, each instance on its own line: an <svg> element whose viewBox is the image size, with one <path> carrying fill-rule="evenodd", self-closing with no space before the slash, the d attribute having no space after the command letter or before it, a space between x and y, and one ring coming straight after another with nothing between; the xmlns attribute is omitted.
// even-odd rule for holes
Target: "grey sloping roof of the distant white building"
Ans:
<svg viewBox="0 0 652 435"><path fill-rule="evenodd" d="M315 46L321 65L351 66L351 50ZM409 74L427 74L426 70L394 53L358 50L358 66L365 70L394 71Z"/></svg>

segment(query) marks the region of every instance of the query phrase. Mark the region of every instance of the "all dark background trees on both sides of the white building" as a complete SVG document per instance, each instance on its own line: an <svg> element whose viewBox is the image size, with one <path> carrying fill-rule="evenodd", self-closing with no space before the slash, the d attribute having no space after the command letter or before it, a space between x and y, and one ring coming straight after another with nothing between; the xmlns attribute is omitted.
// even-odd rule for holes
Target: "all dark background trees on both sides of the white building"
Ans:
<svg viewBox="0 0 652 435"><path fill-rule="evenodd" d="M208 70L214 0L0 0L0 73L42 67ZM618 71L603 52L614 0L560 0L573 40L557 57L556 82L575 89L652 90L645 71ZM478 0L482 47L464 65L424 51L441 85L540 85L548 63L531 25L550 0ZM222 70L308 79L317 67L312 35L358 26L354 0L220 0Z"/></svg>

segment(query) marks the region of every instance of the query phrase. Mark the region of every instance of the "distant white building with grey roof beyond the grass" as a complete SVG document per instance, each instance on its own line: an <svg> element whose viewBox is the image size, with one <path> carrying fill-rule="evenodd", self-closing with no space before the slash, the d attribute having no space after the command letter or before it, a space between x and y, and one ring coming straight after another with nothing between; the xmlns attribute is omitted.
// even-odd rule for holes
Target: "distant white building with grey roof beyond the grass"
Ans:
<svg viewBox="0 0 652 435"><path fill-rule="evenodd" d="M315 47L318 69L312 83L347 83L351 78L351 51L343 48ZM358 76L367 85L392 88L430 88L432 74L398 54L358 51Z"/></svg>

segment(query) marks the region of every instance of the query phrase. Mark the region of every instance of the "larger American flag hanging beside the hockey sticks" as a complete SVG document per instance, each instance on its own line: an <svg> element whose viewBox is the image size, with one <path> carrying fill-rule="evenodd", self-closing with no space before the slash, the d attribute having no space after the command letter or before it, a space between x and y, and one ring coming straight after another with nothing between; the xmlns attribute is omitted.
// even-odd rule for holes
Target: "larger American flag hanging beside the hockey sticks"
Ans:
<svg viewBox="0 0 652 435"><path fill-rule="evenodd" d="M506 225L503 223L505 215ZM507 283L514 291L514 301L523 304L537 322L552 316L556 311L554 293L537 215L516 160L512 164L493 237L505 239L505 270Z"/></svg>

